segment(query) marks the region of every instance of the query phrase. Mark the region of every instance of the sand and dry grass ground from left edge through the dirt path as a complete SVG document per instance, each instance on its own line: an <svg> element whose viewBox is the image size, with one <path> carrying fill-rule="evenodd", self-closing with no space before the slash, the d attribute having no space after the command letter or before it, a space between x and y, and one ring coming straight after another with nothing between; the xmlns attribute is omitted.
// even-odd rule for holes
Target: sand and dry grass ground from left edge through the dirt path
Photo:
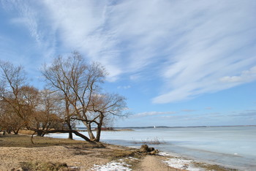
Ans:
<svg viewBox="0 0 256 171"><path fill-rule="evenodd" d="M161 156L141 155L135 148L118 145L47 137L34 137L32 145L26 135L1 136L0 145L0 170L178 170L162 162Z"/></svg>

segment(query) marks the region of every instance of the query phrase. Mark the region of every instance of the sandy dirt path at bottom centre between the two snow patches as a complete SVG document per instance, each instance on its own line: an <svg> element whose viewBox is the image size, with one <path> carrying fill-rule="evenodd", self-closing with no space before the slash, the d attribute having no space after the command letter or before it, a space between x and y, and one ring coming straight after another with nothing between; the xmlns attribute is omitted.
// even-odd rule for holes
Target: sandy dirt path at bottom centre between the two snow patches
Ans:
<svg viewBox="0 0 256 171"><path fill-rule="evenodd" d="M167 164L163 163L159 156L146 156L139 170L145 171L180 171L179 169L169 167Z"/></svg>

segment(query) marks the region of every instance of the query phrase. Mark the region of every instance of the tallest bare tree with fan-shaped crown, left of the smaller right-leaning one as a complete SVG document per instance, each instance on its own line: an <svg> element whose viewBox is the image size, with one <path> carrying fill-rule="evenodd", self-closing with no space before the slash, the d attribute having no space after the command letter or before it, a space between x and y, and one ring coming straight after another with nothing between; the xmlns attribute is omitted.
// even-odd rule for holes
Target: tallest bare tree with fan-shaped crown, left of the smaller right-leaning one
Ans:
<svg viewBox="0 0 256 171"><path fill-rule="evenodd" d="M99 84L105 79L105 69L97 64L86 64L79 53L72 53L66 60L59 56L51 66L45 66L42 74L48 80L48 86L53 91L64 95L67 111L69 104L75 113L67 112L70 118L82 121L89 133L90 140L94 140L89 121L89 104L92 94L99 91Z"/></svg>

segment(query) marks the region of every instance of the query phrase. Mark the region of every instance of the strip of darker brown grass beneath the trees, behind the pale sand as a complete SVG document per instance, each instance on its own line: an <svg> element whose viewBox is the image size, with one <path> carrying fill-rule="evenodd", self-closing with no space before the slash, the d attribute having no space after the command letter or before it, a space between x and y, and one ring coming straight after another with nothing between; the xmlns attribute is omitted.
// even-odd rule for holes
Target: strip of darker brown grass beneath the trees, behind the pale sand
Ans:
<svg viewBox="0 0 256 171"><path fill-rule="evenodd" d="M102 148L100 156L107 159L119 159L126 156L135 156L134 148L125 148L118 145L103 144L101 142L86 142L81 140L69 140L51 137L37 137L33 138L34 144L31 142L31 136L7 134L0 136L1 147L24 147L24 148L38 148L48 146L64 146L65 148L75 149L75 155L86 155L88 153L83 150L94 151L94 148Z"/></svg>

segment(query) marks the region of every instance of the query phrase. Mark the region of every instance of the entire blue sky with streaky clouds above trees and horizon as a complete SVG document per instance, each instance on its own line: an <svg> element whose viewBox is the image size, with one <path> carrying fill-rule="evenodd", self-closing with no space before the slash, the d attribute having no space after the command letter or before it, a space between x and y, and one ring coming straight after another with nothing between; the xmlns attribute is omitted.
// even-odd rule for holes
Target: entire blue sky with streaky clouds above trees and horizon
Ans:
<svg viewBox="0 0 256 171"><path fill-rule="evenodd" d="M0 0L0 58L40 68L74 50L127 98L113 126L256 124L255 0Z"/></svg>

